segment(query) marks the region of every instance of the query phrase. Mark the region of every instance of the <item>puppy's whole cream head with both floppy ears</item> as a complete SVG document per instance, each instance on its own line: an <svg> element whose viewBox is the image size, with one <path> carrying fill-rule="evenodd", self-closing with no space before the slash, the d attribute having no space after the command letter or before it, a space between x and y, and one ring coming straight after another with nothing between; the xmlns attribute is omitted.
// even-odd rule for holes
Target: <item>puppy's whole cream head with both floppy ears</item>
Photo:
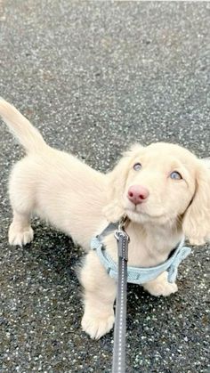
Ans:
<svg viewBox="0 0 210 373"><path fill-rule="evenodd" d="M108 175L104 213L153 225L182 225L195 245L210 236L210 171L189 150L158 142L134 145Z"/></svg>

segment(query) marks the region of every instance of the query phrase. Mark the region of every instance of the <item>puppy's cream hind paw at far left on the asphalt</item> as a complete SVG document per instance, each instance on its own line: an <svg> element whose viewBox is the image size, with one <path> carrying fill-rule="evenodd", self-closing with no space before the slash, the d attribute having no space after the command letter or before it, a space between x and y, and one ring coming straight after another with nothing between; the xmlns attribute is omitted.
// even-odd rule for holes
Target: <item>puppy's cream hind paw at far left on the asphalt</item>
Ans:
<svg viewBox="0 0 210 373"><path fill-rule="evenodd" d="M8 238L10 245L22 247L32 241L34 238L34 231L30 226L20 231L20 228L18 229L17 226L11 224Z"/></svg>

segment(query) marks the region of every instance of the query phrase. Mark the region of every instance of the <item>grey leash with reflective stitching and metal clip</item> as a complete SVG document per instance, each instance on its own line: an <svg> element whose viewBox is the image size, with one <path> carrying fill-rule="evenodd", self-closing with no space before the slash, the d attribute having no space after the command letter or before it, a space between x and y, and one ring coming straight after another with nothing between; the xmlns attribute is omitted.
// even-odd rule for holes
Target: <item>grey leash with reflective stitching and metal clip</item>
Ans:
<svg viewBox="0 0 210 373"><path fill-rule="evenodd" d="M130 240L125 232L125 223L126 218L122 218L119 222L117 231L115 231L118 254L118 278L112 373L125 373L127 261L128 243Z"/></svg>

